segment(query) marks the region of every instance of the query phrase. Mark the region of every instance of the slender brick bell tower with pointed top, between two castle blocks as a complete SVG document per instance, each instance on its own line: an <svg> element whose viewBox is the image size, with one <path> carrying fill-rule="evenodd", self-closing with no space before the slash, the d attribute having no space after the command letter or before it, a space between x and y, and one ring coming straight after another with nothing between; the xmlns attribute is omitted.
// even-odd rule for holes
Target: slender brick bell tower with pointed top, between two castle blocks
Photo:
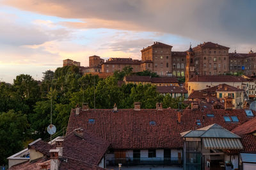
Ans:
<svg viewBox="0 0 256 170"><path fill-rule="evenodd" d="M185 80L185 88L188 89L188 81L193 78L195 73L195 59L194 59L195 53L193 52L191 45L186 55L186 80Z"/></svg>

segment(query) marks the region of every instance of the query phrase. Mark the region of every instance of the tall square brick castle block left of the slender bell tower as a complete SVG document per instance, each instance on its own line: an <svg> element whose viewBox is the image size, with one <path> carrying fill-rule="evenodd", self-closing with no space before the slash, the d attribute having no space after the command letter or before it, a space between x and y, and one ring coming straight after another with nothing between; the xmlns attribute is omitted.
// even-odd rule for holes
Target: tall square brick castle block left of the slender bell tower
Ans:
<svg viewBox="0 0 256 170"><path fill-rule="evenodd" d="M141 50L141 60L152 61L152 71L161 76L172 75L172 46L160 42Z"/></svg>

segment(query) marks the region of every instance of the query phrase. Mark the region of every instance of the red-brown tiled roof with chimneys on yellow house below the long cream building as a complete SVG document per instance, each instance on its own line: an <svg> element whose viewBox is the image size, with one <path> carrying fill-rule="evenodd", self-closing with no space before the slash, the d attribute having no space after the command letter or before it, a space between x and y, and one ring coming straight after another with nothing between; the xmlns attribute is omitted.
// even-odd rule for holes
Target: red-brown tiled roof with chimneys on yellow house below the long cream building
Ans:
<svg viewBox="0 0 256 170"><path fill-rule="evenodd" d="M237 89L236 87L232 87L230 85L227 85L225 83L216 85L214 87L209 87L207 89L203 90L195 90L192 92L188 99L205 99L205 97L214 97L216 98L216 91L220 92L239 92L243 91L242 89Z"/></svg>

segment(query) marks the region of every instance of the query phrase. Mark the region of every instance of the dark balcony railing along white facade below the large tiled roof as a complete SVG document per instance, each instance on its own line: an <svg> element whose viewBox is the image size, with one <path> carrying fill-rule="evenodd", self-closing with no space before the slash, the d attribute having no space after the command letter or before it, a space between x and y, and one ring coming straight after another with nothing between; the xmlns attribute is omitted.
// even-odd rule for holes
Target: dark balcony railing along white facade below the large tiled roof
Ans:
<svg viewBox="0 0 256 170"><path fill-rule="evenodd" d="M107 165L116 166L122 164L124 166L137 165L182 165L182 160L179 158L113 158L107 159Z"/></svg>

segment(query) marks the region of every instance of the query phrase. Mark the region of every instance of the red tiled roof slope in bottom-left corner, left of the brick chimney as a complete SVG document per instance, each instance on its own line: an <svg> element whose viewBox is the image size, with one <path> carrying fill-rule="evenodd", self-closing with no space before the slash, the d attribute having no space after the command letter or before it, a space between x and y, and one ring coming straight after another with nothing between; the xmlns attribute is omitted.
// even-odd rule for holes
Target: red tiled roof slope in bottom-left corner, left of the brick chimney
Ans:
<svg viewBox="0 0 256 170"><path fill-rule="evenodd" d="M16 164L15 166L12 166L10 167L9 169L10 170L28 170L28 169L35 169L35 170L40 170L40 166L38 164L42 163L42 162L45 162L49 159L45 158L45 157L42 157L40 159L36 159L36 160L32 160L29 162L26 161L26 162L22 162L20 164ZM47 166L47 169L50 169L50 165Z"/></svg>

